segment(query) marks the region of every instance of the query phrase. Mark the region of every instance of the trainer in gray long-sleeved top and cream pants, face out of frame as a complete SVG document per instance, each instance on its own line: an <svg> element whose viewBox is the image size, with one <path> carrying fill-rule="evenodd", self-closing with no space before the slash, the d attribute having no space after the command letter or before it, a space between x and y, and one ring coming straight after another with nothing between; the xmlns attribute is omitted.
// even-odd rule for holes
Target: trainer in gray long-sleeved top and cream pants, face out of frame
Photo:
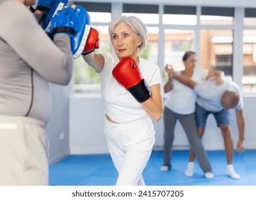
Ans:
<svg viewBox="0 0 256 200"><path fill-rule="evenodd" d="M49 83L72 78L75 36L60 27L79 31L80 16L74 7L57 14L52 41L38 22L55 3L39 0L34 14L32 0L0 3L0 185L48 185Z"/></svg>

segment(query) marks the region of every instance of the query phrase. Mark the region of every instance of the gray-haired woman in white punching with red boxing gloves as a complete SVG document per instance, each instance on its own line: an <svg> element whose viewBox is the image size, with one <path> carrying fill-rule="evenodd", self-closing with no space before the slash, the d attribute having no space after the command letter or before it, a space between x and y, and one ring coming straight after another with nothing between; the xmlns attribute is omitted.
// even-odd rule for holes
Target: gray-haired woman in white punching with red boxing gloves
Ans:
<svg viewBox="0 0 256 200"><path fill-rule="evenodd" d="M101 77L105 136L119 174L116 185L145 185L142 173L155 141L151 118L158 121L163 111L161 73L157 64L138 56L147 44L140 19L119 16L110 23L109 35L115 54L93 51L83 58Z"/></svg>

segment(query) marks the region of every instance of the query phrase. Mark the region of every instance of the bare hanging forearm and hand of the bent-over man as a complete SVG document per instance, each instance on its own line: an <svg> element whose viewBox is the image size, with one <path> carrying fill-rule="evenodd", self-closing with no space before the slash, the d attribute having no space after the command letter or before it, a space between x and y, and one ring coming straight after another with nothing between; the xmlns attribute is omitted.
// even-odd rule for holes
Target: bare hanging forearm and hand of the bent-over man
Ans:
<svg viewBox="0 0 256 200"><path fill-rule="evenodd" d="M241 154L242 151L245 150L245 117L242 109L235 111L235 114L237 116L237 127L239 132L239 140L237 141L237 151L239 151L239 153Z"/></svg>

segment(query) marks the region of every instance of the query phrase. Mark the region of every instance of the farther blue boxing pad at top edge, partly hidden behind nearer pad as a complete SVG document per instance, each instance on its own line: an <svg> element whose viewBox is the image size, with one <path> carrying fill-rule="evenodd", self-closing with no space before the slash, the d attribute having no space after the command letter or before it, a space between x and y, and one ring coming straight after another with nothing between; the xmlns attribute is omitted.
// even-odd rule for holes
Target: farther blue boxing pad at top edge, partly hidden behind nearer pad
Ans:
<svg viewBox="0 0 256 200"><path fill-rule="evenodd" d="M44 19L42 21L42 28L44 29L44 31L49 33L52 17L57 14L57 11L62 10L69 1L70 0L53 0L52 4L50 5L49 12L46 14L46 16L44 16Z"/></svg>

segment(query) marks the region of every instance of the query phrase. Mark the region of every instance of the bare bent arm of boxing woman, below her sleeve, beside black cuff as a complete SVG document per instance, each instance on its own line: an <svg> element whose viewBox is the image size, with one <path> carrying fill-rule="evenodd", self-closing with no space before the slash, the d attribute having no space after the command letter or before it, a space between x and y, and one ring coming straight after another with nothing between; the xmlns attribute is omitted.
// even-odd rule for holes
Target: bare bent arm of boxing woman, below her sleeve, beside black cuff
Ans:
<svg viewBox="0 0 256 200"><path fill-rule="evenodd" d="M161 84L155 84L149 87L151 90L151 97L142 103L143 108L147 114L155 121L161 119L163 114L163 98L161 96Z"/></svg>

